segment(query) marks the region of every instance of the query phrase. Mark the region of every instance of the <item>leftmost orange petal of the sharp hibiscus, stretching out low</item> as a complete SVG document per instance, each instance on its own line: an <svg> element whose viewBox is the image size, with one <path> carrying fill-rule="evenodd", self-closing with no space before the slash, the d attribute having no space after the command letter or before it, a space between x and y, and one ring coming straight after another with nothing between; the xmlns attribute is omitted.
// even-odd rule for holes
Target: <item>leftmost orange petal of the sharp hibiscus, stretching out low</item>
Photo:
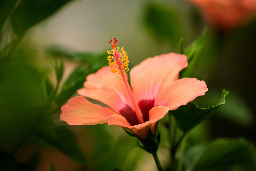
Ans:
<svg viewBox="0 0 256 171"><path fill-rule="evenodd" d="M73 97L61 107L60 121L69 125L96 125L108 123L109 116L117 114L111 108L89 102L82 96Z"/></svg>

